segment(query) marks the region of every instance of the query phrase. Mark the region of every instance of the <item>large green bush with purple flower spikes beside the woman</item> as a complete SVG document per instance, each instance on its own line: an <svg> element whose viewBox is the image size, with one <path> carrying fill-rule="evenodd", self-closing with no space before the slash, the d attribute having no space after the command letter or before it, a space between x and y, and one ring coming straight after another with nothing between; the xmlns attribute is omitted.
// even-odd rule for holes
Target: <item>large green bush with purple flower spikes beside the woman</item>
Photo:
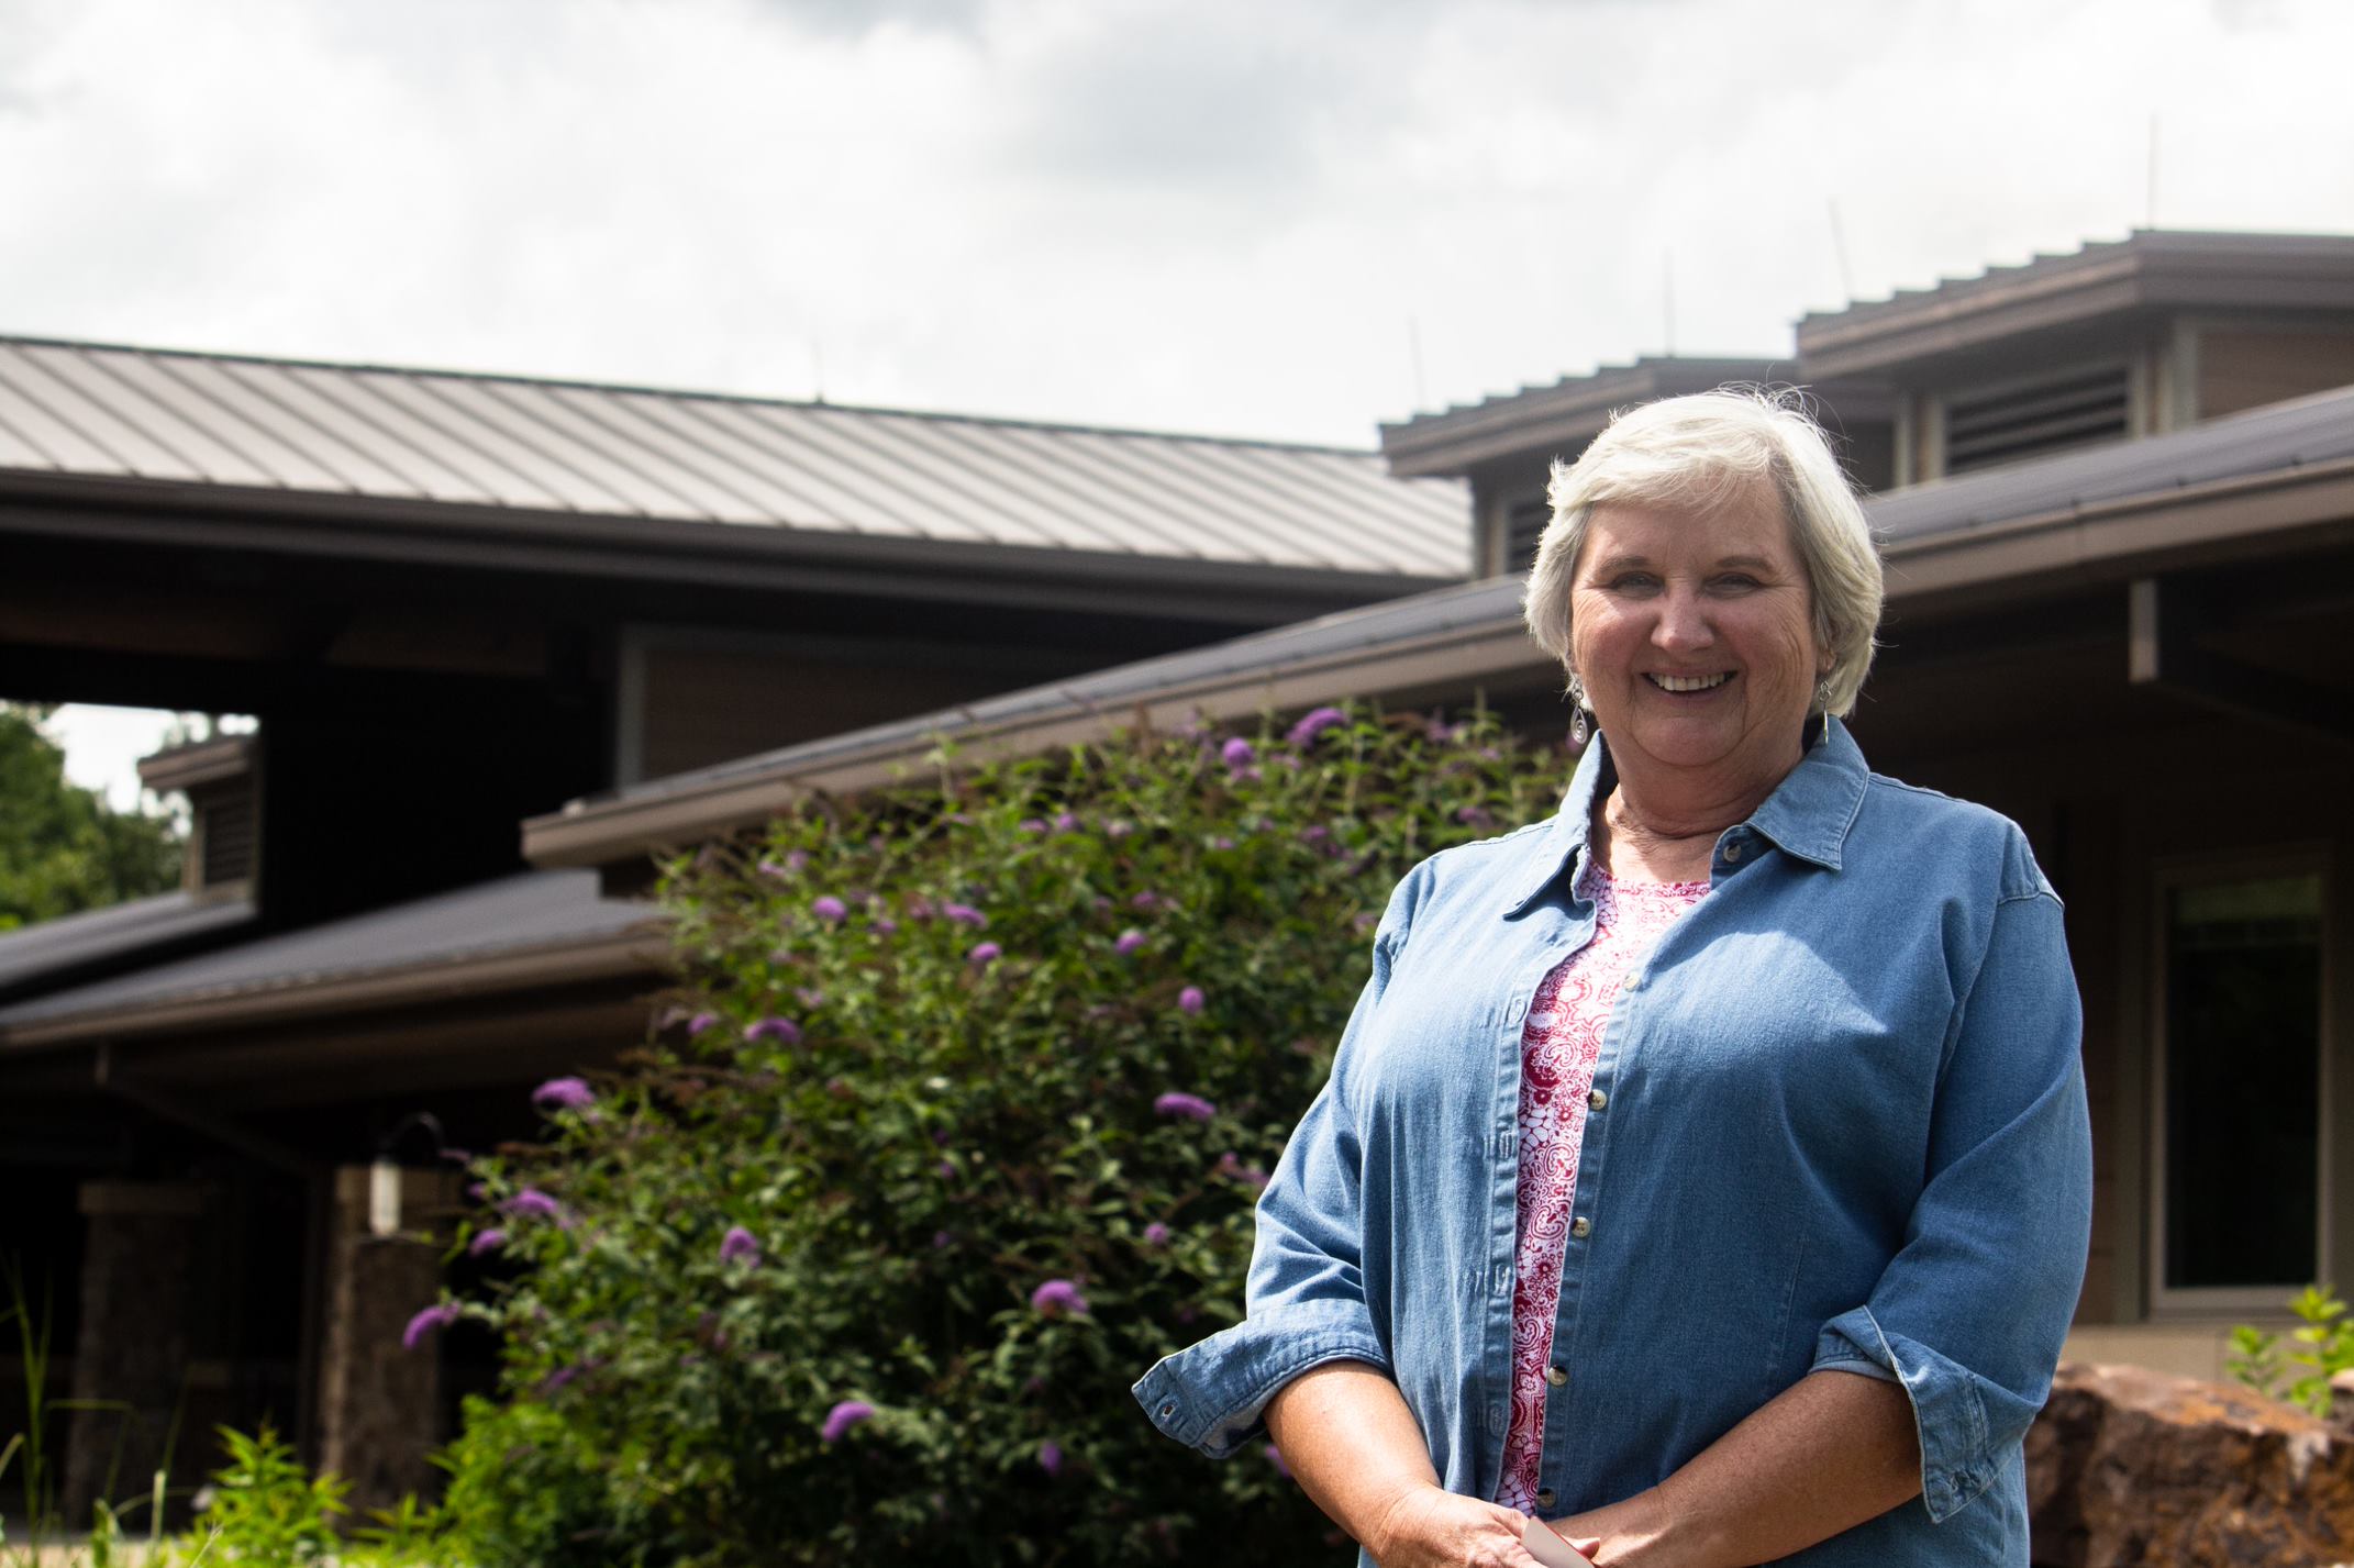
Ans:
<svg viewBox="0 0 2354 1568"><path fill-rule="evenodd" d="M1485 720L1130 735L669 864L666 1026L478 1168L518 1267L468 1307L506 1368L445 1455L459 1552L1335 1561L1271 1455L1186 1455L1128 1384L1241 1316L1394 881L1561 775Z"/></svg>

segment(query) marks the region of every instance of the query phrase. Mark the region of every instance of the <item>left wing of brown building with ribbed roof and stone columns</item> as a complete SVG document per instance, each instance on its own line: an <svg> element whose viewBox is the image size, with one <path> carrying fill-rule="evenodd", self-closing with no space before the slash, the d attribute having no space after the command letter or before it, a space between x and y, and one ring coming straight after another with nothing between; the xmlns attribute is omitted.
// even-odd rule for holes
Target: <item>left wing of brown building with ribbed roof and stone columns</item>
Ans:
<svg viewBox="0 0 2354 1568"><path fill-rule="evenodd" d="M0 937L0 1255L54 1290L49 1398L127 1406L73 1420L87 1519L174 1422L431 1483L487 1368L400 1349L438 1257L370 1234L370 1168L414 1224L438 1144L527 1135L661 984L647 866L532 869L520 819L1415 593L1464 537L1370 452L0 339L0 692L261 718L146 768L181 892Z"/></svg>

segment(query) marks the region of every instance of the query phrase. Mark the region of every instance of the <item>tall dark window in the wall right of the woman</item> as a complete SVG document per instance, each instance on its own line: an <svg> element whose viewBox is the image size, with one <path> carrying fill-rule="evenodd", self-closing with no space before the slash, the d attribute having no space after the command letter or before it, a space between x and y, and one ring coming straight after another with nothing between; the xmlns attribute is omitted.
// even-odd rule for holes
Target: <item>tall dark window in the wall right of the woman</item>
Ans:
<svg viewBox="0 0 2354 1568"><path fill-rule="evenodd" d="M2279 1307L2321 1269L2321 873L2173 881L2159 965L2159 1297Z"/></svg>

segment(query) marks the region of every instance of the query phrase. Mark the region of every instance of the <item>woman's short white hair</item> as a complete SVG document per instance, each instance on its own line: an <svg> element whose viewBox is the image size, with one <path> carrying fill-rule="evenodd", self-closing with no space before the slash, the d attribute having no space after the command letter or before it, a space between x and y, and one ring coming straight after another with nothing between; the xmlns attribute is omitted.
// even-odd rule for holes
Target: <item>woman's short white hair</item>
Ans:
<svg viewBox="0 0 2354 1568"><path fill-rule="evenodd" d="M1815 640L1831 655L1810 711L1846 716L1855 709L1881 624L1881 553L1806 396L1761 386L1718 386L1620 410L1584 457L1554 464L1547 487L1554 520L1528 570L1523 614L1530 636L1568 669L1580 706L1584 683L1570 669L1570 589L1594 509L1620 501L1709 513L1742 499L1758 480L1782 497L1806 567Z"/></svg>

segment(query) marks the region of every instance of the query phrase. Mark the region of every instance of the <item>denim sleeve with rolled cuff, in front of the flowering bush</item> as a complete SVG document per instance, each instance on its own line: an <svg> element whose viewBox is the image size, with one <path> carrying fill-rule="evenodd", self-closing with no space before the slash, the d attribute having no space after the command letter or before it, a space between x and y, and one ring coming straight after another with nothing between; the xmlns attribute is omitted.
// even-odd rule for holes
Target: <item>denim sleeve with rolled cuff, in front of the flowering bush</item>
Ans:
<svg viewBox="0 0 2354 1568"><path fill-rule="evenodd" d="M1264 1427L1266 1401L1302 1373L1328 1361L1391 1370L1387 1335L1365 1307L1365 1165L1349 1085L1405 942L1412 885L1410 876L1389 899L1332 1076L1259 1194L1243 1321L1165 1356L1132 1389L1163 1434L1215 1460L1248 1443Z"/></svg>

